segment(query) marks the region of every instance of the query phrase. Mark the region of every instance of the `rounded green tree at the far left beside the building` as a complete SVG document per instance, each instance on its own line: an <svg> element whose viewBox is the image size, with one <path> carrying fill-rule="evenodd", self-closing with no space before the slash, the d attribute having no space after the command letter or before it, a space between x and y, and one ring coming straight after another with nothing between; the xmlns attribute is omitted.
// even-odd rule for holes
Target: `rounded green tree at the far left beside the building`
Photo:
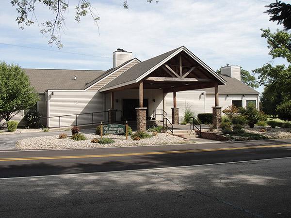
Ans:
<svg viewBox="0 0 291 218"><path fill-rule="evenodd" d="M39 100L29 77L14 64L0 62L0 115L7 121Z"/></svg>

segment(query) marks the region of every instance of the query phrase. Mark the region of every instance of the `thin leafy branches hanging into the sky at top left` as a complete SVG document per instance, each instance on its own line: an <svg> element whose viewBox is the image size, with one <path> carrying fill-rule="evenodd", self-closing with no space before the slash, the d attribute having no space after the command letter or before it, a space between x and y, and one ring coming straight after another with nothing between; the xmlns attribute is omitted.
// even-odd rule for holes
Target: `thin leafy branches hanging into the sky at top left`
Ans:
<svg viewBox="0 0 291 218"><path fill-rule="evenodd" d="M153 0L146 0L151 3ZM158 0L155 0L158 3ZM41 23L42 29L40 32L49 38L49 45L55 44L59 49L63 47L61 42L61 33L65 31L65 12L69 9L69 0L11 0L13 7L16 7L18 13L16 21L20 29L25 26L31 26L37 21L35 16L36 5L43 5L52 12L52 18ZM72 7L72 6L71 6ZM129 9L128 1L123 1L123 7ZM75 21L80 23L81 17L88 13L92 16L93 21L98 27L97 21L100 19L97 16L97 10L91 6L90 0L77 0L75 6L76 14Z"/></svg>

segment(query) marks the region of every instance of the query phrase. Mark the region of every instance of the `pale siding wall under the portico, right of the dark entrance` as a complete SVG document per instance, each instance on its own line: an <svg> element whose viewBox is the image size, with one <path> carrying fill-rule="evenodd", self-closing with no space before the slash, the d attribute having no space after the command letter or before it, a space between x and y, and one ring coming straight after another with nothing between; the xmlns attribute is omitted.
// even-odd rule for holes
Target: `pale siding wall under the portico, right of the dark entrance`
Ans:
<svg viewBox="0 0 291 218"><path fill-rule="evenodd" d="M203 93L203 94L202 94ZM205 113L205 92L204 91L183 91L176 93L177 108L179 109L179 122L183 120L185 109L188 107L197 116L198 113ZM172 109L174 107L173 93L167 93L164 99L164 110L167 118L172 122Z"/></svg>

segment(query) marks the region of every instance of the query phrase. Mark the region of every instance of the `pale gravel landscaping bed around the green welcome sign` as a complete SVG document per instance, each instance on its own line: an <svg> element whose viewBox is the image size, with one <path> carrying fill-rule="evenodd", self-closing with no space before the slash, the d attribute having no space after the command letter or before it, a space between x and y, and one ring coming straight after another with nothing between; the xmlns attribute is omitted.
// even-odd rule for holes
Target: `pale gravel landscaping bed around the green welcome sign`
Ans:
<svg viewBox="0 0 291 218"><path fill-rule="evenodd" d="M132 140L130 137L125 140L125 136L107 135L103 138L113 139L112 144L92 143L91 139L100 139L100 136L95 134L84 134L86 140L74 141L68 135L67 139L58 139L59 136L42 136L19 140L16 142L16 148L20 150L31 149L66 149L66 148L98 148L98 147L124 147L124 146L146 146L146 145L165 145L165 144L185 144L193 143L184 140L178 136L173 136L168 133L158 133L158 135L142 140Z"/></svg>

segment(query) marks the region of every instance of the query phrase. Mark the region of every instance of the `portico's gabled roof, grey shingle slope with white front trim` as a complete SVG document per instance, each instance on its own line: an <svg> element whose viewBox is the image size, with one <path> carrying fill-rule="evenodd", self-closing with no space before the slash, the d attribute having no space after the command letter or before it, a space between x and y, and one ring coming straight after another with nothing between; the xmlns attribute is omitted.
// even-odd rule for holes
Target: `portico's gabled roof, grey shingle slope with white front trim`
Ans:
<svg viewBox="0 0 291 218"><path fill-rule="evenodd" d="M132 84L135 82L138 82L142 78L145 78L149 73L154 71L156 68L162 65L162 63L168 61L168 59L174 57L176 54L178 54L181 51L185 51L188 53L192 58L194 58L195 61L197 61L199 64L205 67L206 70L210 72L215 78L217 78L220 81L220 84L225 84L226 81L221 78L218 74L216 74L208 65L206 65L204 62L202 62L199 58L197 58L192 52L190 52L186 47L181 46L174 50L168 51L164 54L161 54L159 56L156 56L154 58L148 59L144 62L140 62L138 64L135 64L131 68L129 68L127 71L113 79L111 82L107 83L105 86L103 86L100 91L107 91L113 88L117 88L119 86L124 86L128 84Z"/></svg>

